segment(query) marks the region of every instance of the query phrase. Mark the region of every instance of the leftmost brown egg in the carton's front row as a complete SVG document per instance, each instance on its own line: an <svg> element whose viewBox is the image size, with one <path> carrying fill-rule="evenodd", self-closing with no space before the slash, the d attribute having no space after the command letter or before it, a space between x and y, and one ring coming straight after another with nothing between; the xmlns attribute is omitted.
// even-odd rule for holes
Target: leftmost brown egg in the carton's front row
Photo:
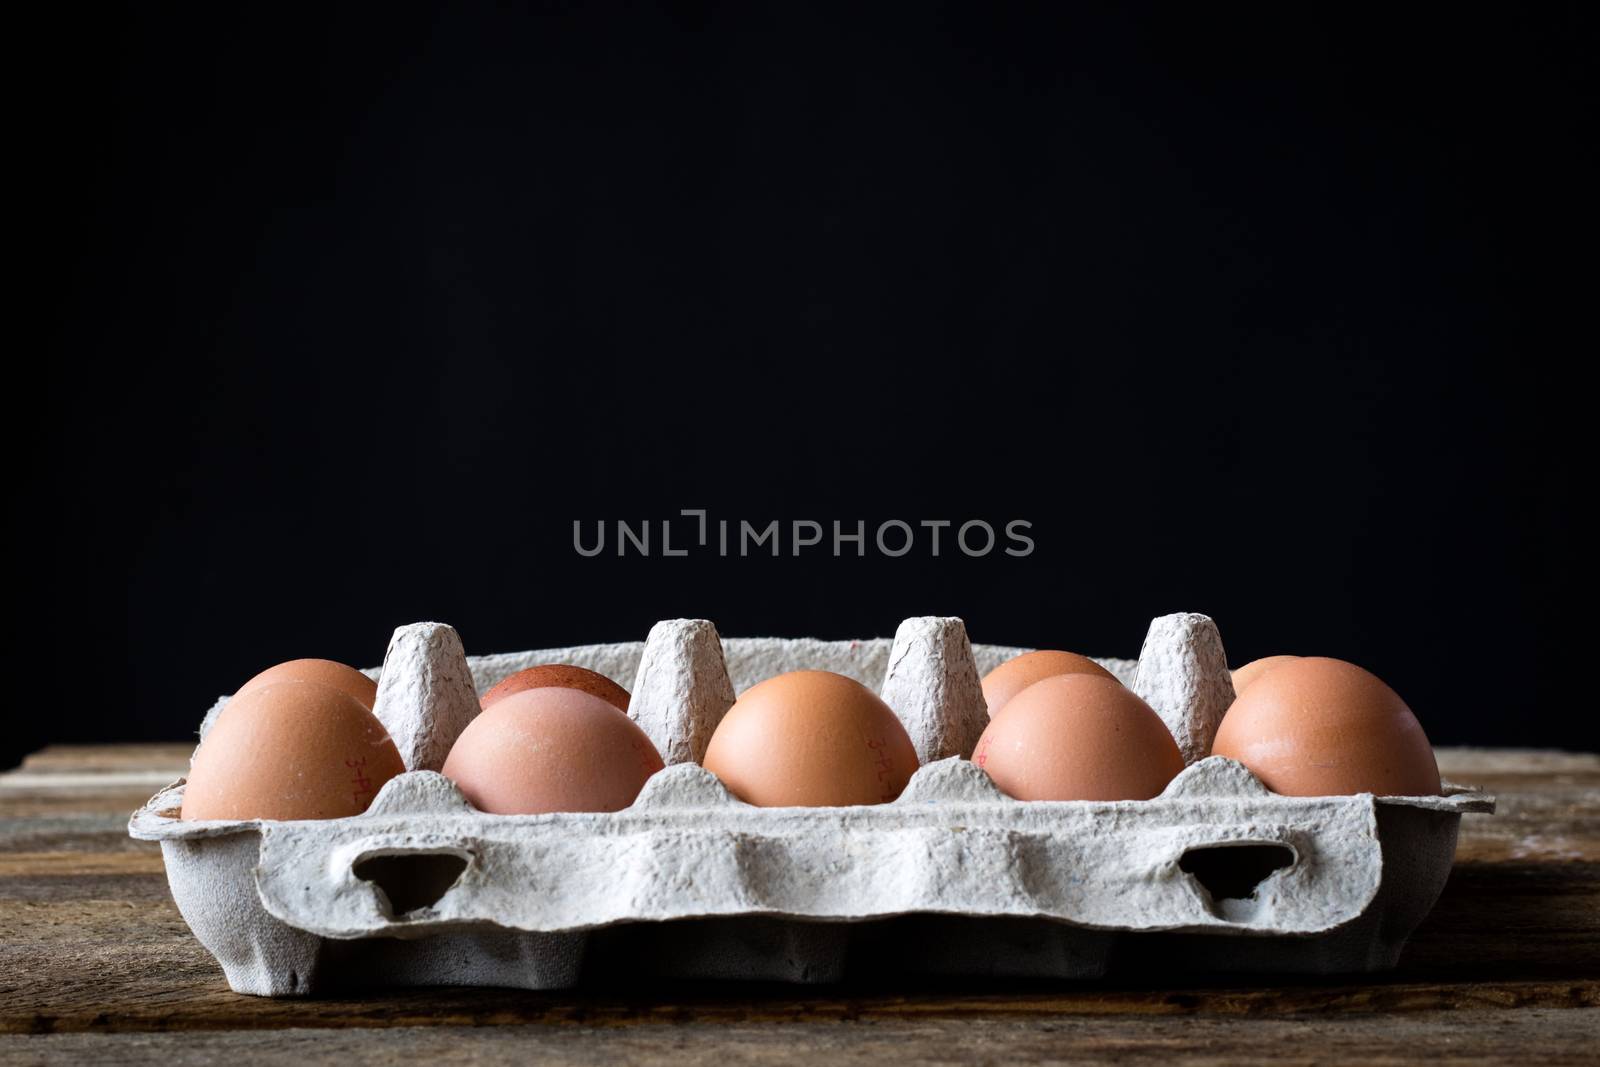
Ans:
<svg viewBox="0 0 1600 1067"><path fill-rule="evenodd" d="M355 697L314 681L235 696L195 752L184 819L341 819L366 811L400 752Z"/></svg>

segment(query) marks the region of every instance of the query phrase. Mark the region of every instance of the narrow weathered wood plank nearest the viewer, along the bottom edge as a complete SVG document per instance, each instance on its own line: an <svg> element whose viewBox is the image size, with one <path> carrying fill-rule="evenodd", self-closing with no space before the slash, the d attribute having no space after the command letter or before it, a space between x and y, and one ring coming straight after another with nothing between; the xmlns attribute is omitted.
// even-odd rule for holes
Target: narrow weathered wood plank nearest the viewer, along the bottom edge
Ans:
<svg viewBox="0 0 1600 1067"><path fill-rule="evenodd" d="M304 1067L378 1064L554 1062L579 1065L840 1064L882 1067L939 1064L1181 1064L1298 1067L1360 1062L1374 1067L1427 1061L1443 1067L1526 1062L1594 1064L1597 1011L1480 1011L1408 1017L1051 1021L837 1019L798 1022L666 1022L656 1027L595 1024L506 1027L397 1027L330 1032L283 1029L203 1033L70 1033L0 1037L0 1059L42 1064L118 1062L158 1067L250 1062Z"/></svg>

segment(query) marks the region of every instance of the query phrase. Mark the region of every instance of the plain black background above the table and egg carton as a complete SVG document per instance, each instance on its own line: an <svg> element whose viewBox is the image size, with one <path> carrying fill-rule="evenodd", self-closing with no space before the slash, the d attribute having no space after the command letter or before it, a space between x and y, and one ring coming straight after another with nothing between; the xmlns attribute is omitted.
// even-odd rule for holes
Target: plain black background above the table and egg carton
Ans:
<svg viewBox="0 0 1600 1067"><path fill-rule="evenodd" d="M13 350L45 379L8 390L42 685L0 755L181 737L416 619L486 653L960 614L1131 656L1178 609L1235 662L1376 670L1435 742L1592 745L1590 30L58 8L16 38L51 331ZM1021 518L1037 550L573 552L685 507Z"/></svg>

